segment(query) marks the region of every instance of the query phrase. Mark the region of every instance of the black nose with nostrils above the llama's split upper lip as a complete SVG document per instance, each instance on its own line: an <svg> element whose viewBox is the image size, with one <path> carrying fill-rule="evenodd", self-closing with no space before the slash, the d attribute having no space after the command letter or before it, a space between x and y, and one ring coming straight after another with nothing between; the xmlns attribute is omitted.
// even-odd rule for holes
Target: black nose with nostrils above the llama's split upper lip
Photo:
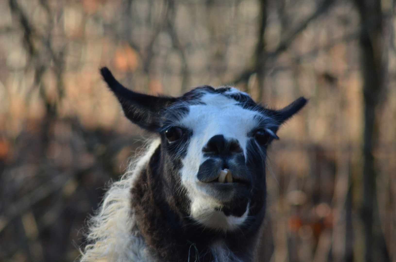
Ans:
<svg viewBox="0 0 396 262"><path fill-rule="evenodd" d="M225 139L223 135L215 135L209 139L202 151L215 155L232 155L242 153L243 150L236 139Z"/></svg>

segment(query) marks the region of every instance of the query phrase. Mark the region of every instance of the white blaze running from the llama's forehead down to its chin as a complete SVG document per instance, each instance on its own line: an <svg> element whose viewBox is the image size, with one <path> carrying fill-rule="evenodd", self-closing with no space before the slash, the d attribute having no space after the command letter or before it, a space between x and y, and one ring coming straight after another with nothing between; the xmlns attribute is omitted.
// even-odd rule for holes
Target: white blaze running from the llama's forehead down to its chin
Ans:
<svg viewBox="0 0 396 262"><path fill-rule="evenodd" d="M226 93L236 92L240 91L232 88ZM234 99L221 94L205 94L201 101L205 104L189 106L188 115L180 122L183 127L192 129L187 155L182 161L181 181L187 188L191 216L195 220L211 228L232 230L245 221L249 208L241 217L225 216L222 211L215 210L221 203L208 196L197 183L198 169L206 160L202 148L211 137L223 135L225 139L238 140L246 158L247 134L257 125L255 116L261 114L244 109Z"/></svg>

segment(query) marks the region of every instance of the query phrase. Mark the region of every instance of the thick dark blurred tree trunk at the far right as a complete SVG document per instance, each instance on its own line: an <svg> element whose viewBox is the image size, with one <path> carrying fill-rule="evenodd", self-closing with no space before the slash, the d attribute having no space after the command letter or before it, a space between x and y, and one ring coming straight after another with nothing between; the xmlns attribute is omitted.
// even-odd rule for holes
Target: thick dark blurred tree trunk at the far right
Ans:
<svg viewBox="0 0 396 262"><path fill-rule="evenodd" d="M383 89L384 66L382 63L383 48L381 43L381 1L380 0L354 0L361 19L360 48L362 59L363 95L364 95L364 169L363 183L364 196L362 206L362 219L366 242L366 262L379 261L377 251L382 232L374 234L373 228L380 228L377 223L377 209L375 182L376 171L374 167L373 148L378 140L376 132L377 119L375 109L379 104L379 95ZM374 256L375 255L375 256ZM386 257L386 255L385 255Z"/></svg>

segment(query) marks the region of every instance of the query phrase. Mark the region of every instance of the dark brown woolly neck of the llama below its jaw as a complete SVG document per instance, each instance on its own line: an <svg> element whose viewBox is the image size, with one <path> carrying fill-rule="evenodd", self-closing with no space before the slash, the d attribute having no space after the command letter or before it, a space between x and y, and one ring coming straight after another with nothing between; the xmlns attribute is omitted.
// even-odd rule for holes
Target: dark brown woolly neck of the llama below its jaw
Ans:
<svg viewBox="0 0 396 262"><path fill-rule="evenodd" d="M156 164L159 153L159 149L154 152L131 189L137 229L159 261L250 261L251 246L257 238L252 230L224 234L205 229L188 219L188 199L183 193L169 199L174 194L166 190L176 190L179 185L161 177Z"/></svg>

